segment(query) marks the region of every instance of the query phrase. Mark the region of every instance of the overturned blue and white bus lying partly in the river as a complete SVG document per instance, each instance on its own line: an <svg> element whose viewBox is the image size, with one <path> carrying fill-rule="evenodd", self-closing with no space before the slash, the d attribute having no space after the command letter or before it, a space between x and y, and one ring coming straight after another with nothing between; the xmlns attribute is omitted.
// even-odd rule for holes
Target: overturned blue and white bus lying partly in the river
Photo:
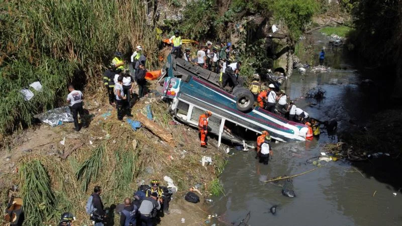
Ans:
<svg viewBox="0 0 402 226"><path fill-rule="evenodd" d="M204 68L188 62L183 65L182 59L174 59L174 55L167 59L162 98L170 101L170 110L178 121L192 127L198 127L198 117L205 110L212 111L208 131L218 136L218 146L222 139L242 144L248 138L255 139L255 133L263 130L277 141L306 140L306 125L254 106L254 97L248 89L228 93L219 86L219 74L203 71Z"/></svg>

